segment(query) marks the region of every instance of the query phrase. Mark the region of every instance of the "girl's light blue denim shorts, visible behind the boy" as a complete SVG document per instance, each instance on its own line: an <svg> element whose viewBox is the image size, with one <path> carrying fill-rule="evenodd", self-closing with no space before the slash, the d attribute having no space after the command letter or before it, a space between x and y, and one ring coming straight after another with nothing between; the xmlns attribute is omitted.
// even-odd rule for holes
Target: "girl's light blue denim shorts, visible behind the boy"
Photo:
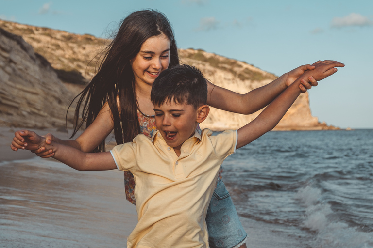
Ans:
<svg viewBox="0 0 373 248"><path fill-rule="evenodd" d="M206 223L210 248L237 248L246 241L247 233L239 221L231 196L221 180L208 206Z"/></svg>

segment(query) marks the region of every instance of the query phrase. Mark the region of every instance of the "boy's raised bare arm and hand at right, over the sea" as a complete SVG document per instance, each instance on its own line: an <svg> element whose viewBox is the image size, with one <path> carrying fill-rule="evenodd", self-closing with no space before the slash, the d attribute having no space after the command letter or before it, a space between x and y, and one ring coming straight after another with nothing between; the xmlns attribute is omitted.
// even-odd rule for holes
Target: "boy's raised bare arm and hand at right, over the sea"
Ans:
<svg viewBox="0 0 373 248"><path fill-rule="evenodd" d="M344 66L344 65L343 65ZM271 131L281 118L285 115L297 97L300 95L299 83L307 80L310 76L316 80L326 78L335 72L335 63L324 62L315 70L306 71L301 77L294 81L283 93L281 93L271 104L265 108L252 122L238 129L237 149L256 140L268 131Z"/></svg>

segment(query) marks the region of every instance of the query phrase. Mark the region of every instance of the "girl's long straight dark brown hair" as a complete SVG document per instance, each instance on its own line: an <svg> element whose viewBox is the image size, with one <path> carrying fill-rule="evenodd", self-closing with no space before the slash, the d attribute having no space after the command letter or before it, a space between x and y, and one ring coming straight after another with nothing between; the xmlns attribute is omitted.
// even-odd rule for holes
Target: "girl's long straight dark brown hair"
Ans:
<svg viewBox="0 0 373 248"><path fill-rule="evenodd" d="M169 67L178 65L179 57L172 27L164 14L154 10L142 10L133 12L122 20L117 35L103 51L103 60L99 65L98 73L74 98L78 101L71 138L84 123L85 127L92 124L106 102L114 121L117 144L132 141L140 133L135 80L130 59L136 56L147 39L161 34L166 35L171 42ZM120 109L118 109L117 97ZM82 119L79 118L80 116ZM105 151L105 140L93 150L93 152L101 151Z"/></svg>

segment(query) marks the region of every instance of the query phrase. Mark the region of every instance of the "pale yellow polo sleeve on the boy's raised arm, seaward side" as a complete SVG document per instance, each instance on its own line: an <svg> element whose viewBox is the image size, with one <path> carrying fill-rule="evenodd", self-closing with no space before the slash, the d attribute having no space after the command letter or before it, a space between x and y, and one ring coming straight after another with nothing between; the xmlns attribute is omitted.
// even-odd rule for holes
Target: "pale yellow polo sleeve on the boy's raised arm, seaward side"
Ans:
<svg viewBox="0 0 373 248"><path fill-rule="evenodd" d="M210 136L210 140L222 162L227 156L236 152L237 130L226 130L218 135Z"/></svg>

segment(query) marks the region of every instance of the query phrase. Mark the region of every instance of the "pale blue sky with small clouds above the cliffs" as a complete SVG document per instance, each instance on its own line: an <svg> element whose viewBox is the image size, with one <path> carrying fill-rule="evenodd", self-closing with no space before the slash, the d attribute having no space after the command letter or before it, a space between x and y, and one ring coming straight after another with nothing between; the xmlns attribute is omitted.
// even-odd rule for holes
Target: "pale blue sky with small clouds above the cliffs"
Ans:
<svg viewBox="0 0 373 248"><path fill-rule="evenodd" d="M0 0L0 19L107 38L136 10L170 20L179 48L203 49L281 76L337 60L309 90L313 116L341 128L373 128L372 0Z"/></svg>

